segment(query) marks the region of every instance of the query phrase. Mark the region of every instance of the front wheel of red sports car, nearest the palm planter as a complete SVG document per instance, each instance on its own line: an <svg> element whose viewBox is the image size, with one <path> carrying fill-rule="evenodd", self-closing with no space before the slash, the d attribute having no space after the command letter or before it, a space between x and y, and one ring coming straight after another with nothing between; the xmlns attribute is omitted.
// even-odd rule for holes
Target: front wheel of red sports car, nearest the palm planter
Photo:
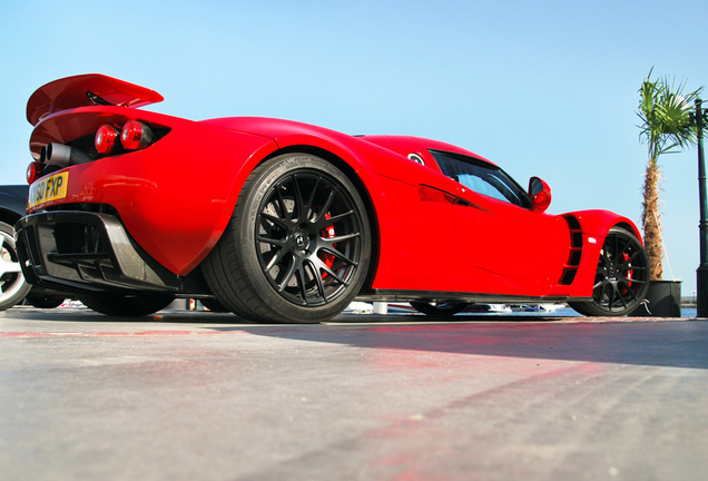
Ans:
<svg viewBox="0 0 708 481"><path fill-rule="evenodd" d="M629 230L613 227L604 237L592 288L592 301L569 302L587 316L625 316L635 311L649 289L649 258Z"/></svg>

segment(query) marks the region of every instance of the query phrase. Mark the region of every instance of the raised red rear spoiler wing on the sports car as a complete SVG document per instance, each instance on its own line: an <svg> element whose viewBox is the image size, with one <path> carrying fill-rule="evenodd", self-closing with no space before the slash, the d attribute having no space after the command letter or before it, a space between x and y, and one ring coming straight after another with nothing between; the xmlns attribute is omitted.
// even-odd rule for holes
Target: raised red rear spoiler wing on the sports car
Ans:
<svg viewBox="0 0 708 481"><path fill-rule="evenodd" d="M163 100L161 95L145 87L99 73L80 75L38 88L27 102L27 120L35 126L48 115L77 107L109 105L135 108Z"/></svg>

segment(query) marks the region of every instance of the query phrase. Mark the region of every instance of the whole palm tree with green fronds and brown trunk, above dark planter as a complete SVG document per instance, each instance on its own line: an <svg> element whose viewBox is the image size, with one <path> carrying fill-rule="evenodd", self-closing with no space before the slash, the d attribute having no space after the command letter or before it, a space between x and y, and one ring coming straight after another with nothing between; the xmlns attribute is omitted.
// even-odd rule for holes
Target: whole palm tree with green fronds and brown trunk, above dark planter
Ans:
<svg viewBox="0 0 708 481"><path fill-rule="evenodd" d="M649 161L645 174L643 212L641 217L645 229L645 247L649 256L649 275L651 281L660 281L663 276L663 246L661 244L661 224L659 222L659 183L661 169L659 156L673 154L677 149L696 144L697 129L692 114L694 100L700 95L702 87L690 94L684 94L686 81L678 86L668 77L651 80L651 69L641 84L639 94L639 111L642 120L642 141L649 149Z"/></svg>

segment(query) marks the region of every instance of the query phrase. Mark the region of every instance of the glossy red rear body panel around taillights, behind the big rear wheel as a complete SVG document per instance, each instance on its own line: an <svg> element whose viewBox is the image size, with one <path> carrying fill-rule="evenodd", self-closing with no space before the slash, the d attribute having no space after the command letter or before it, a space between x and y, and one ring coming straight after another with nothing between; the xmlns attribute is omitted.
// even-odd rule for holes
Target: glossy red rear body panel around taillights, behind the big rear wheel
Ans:
<svg viewBox="0 0 708 481"><path fill-rule="evenodd" d="M276 145L262 136L215 129L191 120L125 107L77 107L45 117L35 128L30 150L66 144L95 132L104 122L139 119L170 128L146 149L69 167L67 195L35 206L67 203L110 204L140 246L178 275L188 274L218 240L237 198L234 179L244 159L262 157ZM184 143L184 138L199 141ZM209 141L204 141L208 139ZM226 154L226 155L225 155ZM193 169L213 176L189 176ZM175 217L181 219L175 223Z"/></svg>

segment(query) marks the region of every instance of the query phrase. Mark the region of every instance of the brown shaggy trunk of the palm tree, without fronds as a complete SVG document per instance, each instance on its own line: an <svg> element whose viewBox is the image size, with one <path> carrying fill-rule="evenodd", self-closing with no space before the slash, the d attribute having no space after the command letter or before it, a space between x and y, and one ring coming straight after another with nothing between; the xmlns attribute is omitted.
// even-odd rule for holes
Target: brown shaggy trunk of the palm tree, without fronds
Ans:
<svg viewBox="0 0 708 481"><path fill-rule="evenodd" d="M661 224L659 223L659 179L661 173L656 158L649 160L645 176L645 202L642 204L642 226L645 247L649 256L649 279L663 277L663 246L661 245Z"/></svg>

